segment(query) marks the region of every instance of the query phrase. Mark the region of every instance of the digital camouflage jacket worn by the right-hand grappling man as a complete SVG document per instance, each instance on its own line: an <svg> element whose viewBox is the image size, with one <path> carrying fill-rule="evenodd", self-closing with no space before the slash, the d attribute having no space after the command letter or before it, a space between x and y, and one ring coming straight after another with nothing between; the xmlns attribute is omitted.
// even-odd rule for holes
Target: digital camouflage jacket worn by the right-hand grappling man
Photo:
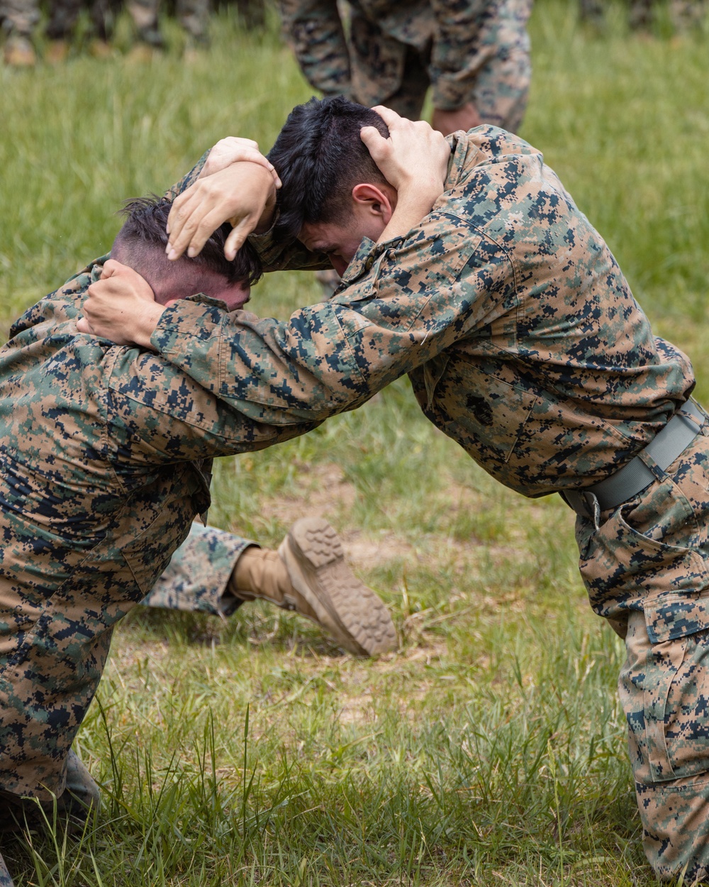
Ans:
<svg viewBox="0 0 709 887"><path fill-rule="evenodd" d="M278 427L352 410L408 373L425 415L511 489L538 497L601 481L690 396L690 361L652 335L604 240L539 151L493 127L449 141L432 212L406 237L362 240L329 302L286 322L175 304L152 344L242 415ZM326 265L269 233L252 242L270 271ZM604 563L581 565L602 616L642 606L643 565L654 570L653 593L663 582L704 587L706 565L670 576L645 552L630 570L628 542L596 559L588 528L577 534L584 557Z"/></svg>

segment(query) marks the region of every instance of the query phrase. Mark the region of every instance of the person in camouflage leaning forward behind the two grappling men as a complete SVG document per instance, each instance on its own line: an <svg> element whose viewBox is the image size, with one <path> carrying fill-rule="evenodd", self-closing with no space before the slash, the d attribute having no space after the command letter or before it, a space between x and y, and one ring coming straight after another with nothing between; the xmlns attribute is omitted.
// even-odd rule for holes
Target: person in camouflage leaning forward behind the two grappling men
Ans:
<svg viewBox="0 0 709 887"><path fill-rule="evenodd" d="M281 0L303 74L325 96L421 114L426 90L448 111L472 102L480 120L515 131L531 76L532 0L354 0L348 35L337 0Z"/></svg>

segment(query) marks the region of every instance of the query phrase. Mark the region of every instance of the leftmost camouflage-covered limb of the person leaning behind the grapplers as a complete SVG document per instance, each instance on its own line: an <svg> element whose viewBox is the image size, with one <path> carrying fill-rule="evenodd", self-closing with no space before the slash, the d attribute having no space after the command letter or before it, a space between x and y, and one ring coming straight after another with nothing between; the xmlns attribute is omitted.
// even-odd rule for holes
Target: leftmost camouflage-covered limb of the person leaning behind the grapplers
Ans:
<svg viewBox="0 0 709 887"><path fill-rule="evenodd" d="M284 35L315 90L343 95L350 88L349 53L337 0L280 0Z"/></svg>

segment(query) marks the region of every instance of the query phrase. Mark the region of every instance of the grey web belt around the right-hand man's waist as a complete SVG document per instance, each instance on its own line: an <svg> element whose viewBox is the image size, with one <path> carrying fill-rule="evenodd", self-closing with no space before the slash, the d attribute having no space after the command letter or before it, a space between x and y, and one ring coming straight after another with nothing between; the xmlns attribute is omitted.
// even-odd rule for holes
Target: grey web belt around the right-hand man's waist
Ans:
<svg viewBox="0 0 709 887"><path fill-rule="evenodd" d="M665 428L658 431L643 452L648 453L665 471L699 434L705 423L705 418L705 413L700 407L688 400L674 413ZM608 508L615 508L637 496L654 480L657 480L656 476L638 455L601 483L595 483L592 487L584 487L583 490L560 491L559 495L564 499L566 505L573 508L576 514L592 518L596 510L594 498L598 503L597 508L600 511L606 511Z"/></svg>

